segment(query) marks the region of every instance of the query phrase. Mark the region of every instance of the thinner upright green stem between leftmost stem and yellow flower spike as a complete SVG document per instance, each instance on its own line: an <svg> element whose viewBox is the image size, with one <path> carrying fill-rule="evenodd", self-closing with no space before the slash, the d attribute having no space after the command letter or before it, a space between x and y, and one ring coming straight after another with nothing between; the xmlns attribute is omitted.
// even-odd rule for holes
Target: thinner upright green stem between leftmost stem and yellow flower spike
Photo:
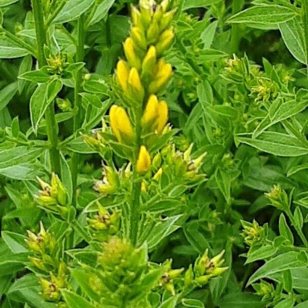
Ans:
<svg viewBox="0 0 308 308"><path fill-rule="evenodd" d="M84 59L84 46L85 46L85 22L84 16L81 15L78 20L78 42L77 42L77 50L76 50L76 62L82 62ZM75 75L75 88L74 88L74 124L73 130L74 133L81 126L81 96L79 92L81 91L81 83L82 83L82 70L76 72ZM78 177L78 153L73 153L71 159L71 172L72 172L72 182L73 182L73 205L76 204L76 188L77 188L77 177Z"/></svg>

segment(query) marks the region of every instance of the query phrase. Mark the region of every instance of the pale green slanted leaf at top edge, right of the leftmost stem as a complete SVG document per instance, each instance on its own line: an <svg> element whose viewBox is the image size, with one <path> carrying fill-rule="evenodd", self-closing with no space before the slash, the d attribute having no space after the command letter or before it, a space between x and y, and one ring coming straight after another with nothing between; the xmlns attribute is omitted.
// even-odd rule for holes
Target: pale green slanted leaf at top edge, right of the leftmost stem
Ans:
<svg viewBox="0 0 308 308"><path fill-rule="evenodd" d="M95 0L68 0L59 14L54 18L54 24L71 22L89 9Z"/></svg>

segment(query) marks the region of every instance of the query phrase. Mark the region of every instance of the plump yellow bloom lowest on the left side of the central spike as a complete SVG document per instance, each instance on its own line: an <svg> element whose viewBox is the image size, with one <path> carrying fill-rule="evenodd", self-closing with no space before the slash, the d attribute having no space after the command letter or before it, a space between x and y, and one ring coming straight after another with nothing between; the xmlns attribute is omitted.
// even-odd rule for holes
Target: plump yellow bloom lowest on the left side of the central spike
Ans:
<svg viewBox="0 0 308 308"><path fill-rule="evenodd" d="M123 107L113 105L109 111L110 125L119 142L130 142L133 137L133 129L129 117Z"/></svg>

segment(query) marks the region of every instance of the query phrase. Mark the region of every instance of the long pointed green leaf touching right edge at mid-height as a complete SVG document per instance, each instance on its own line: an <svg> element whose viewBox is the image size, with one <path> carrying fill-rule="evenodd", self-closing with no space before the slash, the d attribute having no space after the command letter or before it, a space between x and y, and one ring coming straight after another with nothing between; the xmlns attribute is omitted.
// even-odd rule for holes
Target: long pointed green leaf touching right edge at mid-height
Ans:
<svg viewBox="0 0 308 308"><path fill-rule="evenodd" d="M235 137L235 142L245 143L253 146L260 151L271 153L277 156L296 157L308 153L308 146L301 140L289 134L265 131L258 139L251 139L244 136L247 134L238 134Z"/></svg>

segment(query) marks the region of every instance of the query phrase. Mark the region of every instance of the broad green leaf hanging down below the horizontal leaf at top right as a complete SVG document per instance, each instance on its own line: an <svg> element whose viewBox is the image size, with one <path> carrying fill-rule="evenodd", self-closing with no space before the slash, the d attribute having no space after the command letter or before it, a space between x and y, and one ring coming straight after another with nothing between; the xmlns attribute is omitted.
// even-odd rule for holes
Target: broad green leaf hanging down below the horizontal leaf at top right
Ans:
<svg viewBox="0 0 308 308"><path fill-rule="evenodd" d="M298 18L279 24L279 30L287 49L295 59L303 64L307 64L307 53L305 51L304 29Z"/></svg>

